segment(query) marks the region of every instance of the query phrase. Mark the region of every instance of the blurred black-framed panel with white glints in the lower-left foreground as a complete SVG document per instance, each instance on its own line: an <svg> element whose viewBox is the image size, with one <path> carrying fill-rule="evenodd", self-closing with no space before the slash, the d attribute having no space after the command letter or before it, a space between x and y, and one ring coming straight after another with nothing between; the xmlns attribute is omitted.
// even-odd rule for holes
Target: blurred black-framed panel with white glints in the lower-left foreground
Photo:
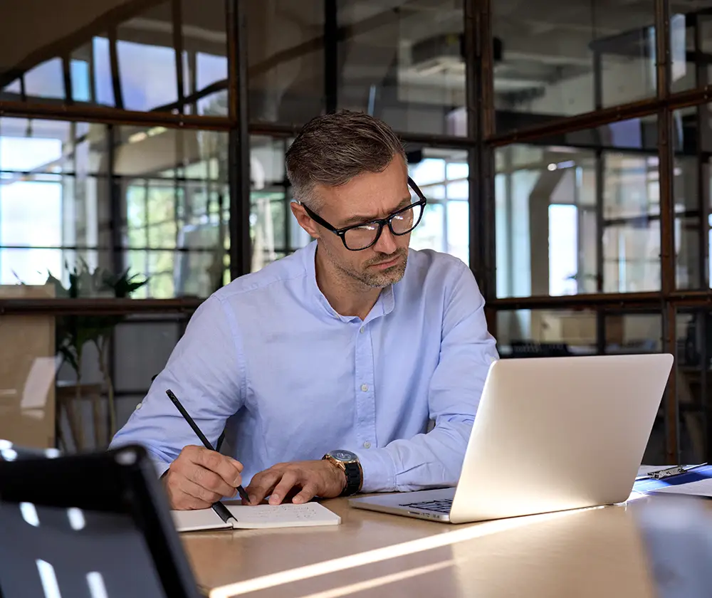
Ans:
<svg viewBox="0 0 712 598"><path fill-rule="evenodd" d="M61 456L0 440L2 598L199 598L140 446Z"/></svg>

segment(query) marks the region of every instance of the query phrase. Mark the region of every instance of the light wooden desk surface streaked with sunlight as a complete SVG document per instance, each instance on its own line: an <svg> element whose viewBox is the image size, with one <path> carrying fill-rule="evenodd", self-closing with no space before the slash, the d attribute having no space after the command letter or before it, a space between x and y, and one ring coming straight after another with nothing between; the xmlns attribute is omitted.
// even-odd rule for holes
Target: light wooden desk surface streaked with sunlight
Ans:
<svg viewBox="0 0 712 598"><path fill-rule="evenodd" d="M643 532L651 511L693 513L708 536L712 525L712 501L679 496L467 525L352 509L345 499L323 504L342 525L183 534L199 584L230 584L215 597L653 598L651 553L670 566L689 561L675 544L679 529ZM698 548L689 537L683 545Z"/></svg>

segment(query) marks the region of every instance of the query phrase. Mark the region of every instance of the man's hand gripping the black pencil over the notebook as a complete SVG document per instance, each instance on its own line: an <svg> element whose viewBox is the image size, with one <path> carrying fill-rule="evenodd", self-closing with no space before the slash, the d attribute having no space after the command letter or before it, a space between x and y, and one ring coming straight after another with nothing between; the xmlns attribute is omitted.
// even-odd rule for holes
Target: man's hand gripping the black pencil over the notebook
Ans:
<svg viewBox="0 0 712 598"><path fill-rule="evenodd" d="M186 446L162 478L172 509L206 509L232 498L242 483L242 463L204 446Z"/></svg>

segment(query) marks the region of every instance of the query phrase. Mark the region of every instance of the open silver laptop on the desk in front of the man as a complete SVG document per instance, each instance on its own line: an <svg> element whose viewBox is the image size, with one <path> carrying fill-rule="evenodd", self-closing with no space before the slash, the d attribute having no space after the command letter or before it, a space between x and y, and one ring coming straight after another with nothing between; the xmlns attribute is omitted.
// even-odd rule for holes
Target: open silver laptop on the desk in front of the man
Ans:
<svg viewBox="0 0 712 598"><path fill-rule="evenodd" d="M528 357L488 372L456 488L352 507L468 523L629 498L673 356Z"/></svg>

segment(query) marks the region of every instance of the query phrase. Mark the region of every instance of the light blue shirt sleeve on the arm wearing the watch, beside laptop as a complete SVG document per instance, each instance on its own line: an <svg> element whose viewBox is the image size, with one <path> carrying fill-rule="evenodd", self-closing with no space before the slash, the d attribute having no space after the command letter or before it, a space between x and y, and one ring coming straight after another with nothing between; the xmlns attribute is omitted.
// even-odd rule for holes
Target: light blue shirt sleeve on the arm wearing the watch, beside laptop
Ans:
<svg viewBox="0 0 712 598"><path fill-rule="evenodd" d="M471 271L461 263L446 298L440 360L429 387L429 413L435 426L427 434L361 451L362 491L456 486L487 372L497 358L484 299Z"/></svg>

